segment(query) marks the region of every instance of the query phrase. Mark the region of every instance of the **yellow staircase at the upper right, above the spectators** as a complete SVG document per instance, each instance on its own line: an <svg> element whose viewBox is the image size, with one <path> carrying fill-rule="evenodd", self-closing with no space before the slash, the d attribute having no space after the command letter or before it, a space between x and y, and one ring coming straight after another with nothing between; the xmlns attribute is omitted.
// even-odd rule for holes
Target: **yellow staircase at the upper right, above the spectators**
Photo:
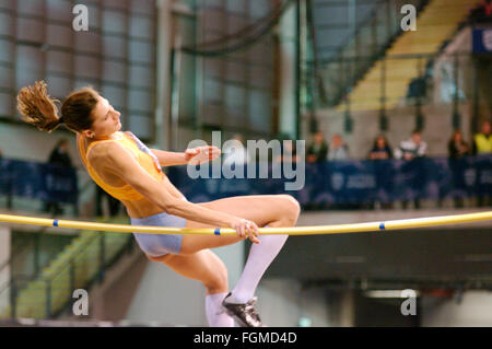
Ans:
<svg viewBox="0 0 492 349"><path fill-rule="evenodd" d="M429 55L438 51L465 21L470 9L480 0L432 0L418 14L417 31L403 32L355 85L350 97L351 110L374 110L382 107L385 95L385 107L394 107L405 100L410 82L422 75L426 59L417 55ZM384 77L384 79L383 79ZM385 85L383 86L383 82ZM384 92L383 92L384 90ZM344 105L338 106L344 110Z"/></svg>

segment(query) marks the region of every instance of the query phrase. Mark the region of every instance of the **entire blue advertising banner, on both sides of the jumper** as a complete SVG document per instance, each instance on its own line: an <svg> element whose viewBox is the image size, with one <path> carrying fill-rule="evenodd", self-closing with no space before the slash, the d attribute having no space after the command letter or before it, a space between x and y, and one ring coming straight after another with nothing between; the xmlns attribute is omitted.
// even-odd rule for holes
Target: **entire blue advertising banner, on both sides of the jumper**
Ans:
<svg viewBox="0 0 492 349"><path fill-rule="evenodd" d="M276 165L248 166L243 168L243 178L235 175L227 179L220 171L216 173L210 167L204 176L194 179L186 166L168 167L168 176L192 202L241 195L290 194L304 208L323 208L372 205L376 201L390 203L399 200L492 196L492 155L459 160L421 158L413 161L307 163L303 174L296 173L297 176L304 176L300 181L303 183L300 190L285 189L285 183L292 183L293 178L282 168L279 172ZM265 166L263 170L261 166ZM256 178L250 176L251 173L255 173ZM2 160L0 194L77 203L77 173L74 168L50 164Z"/></svg>

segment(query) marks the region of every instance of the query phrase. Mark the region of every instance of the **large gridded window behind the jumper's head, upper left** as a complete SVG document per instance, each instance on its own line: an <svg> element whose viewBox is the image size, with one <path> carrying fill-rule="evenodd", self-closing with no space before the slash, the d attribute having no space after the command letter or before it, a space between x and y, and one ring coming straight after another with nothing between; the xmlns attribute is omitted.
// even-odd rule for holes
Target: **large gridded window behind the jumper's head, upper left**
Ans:
<svg viewBox="0 0 492 349"><path fill-rule="evenodd" d="M0 2L0 119L15 115L17 91L44 79L62 100L92 85L119 108L124 128L152 141L155 0L81 0L89 31L75 32L71 0Z"/></svg>

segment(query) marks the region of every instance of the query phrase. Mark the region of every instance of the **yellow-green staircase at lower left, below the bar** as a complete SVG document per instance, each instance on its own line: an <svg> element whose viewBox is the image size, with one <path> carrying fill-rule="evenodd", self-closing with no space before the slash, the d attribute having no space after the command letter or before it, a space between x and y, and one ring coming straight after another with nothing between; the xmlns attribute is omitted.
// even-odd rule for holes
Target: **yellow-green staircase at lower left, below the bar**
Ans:
<svg viewBox="0 0 492 349"><path fill-rule="evenodd" d="M0 318L55 317L73 301L73 290L87 289L101 279L104 269L118 259L132 239L131 234L121 233L82 233L37 278L19 291L13 302L14 310L11 309L12 302L0 310Z"/></svg>

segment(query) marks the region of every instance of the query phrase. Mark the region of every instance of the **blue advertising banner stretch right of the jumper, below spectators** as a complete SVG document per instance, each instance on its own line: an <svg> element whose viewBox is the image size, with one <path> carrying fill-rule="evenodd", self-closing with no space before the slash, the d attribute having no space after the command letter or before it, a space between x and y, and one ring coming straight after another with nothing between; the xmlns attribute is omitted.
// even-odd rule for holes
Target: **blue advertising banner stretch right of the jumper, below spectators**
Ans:
<svg viewBox="0 0 492 349"><path fill-rule="evenodd" d="M171 182L192 202L238 195L290 194L308 208L492 195L492 155L306 164L301 190L285 190L289 179L274 178L271 165L267 178L192 179L186 166L168 170Z"/></svg>

